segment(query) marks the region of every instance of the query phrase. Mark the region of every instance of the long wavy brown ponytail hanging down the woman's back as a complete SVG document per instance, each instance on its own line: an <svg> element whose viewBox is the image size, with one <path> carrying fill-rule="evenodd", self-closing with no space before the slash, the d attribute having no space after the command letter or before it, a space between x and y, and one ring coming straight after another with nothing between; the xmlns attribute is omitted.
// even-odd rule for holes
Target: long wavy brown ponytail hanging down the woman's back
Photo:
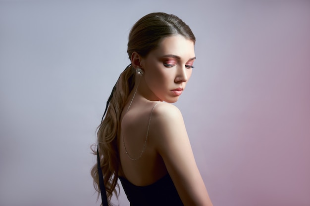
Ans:
<svg viewBox="0 0 310 206"><path fill-rule="evenodd" d="M122 110L135 85L134 74L134 69L129 64L113 86L106 102L101 124L98 127L97 151L95 150L96 145L93 145L92 148L93 154L97 155L97 164L92 167L91 175L94 178L96 191L102 194L103 204L110 202L113 192L118 196L115 190L115 187L118 187L119 166L117 136Z"/></svg>

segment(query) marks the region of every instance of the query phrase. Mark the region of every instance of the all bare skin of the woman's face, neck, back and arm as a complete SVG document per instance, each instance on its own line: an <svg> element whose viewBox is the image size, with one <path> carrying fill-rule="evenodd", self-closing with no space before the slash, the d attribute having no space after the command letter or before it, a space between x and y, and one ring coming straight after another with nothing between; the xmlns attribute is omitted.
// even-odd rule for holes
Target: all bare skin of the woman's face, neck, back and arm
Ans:
<svg viewBox="0 0 310 206"><path fill-rule="evenodd" d="M133 89L121 115L118 138L119 175L132 184L146 186L155 183L167 172L185 206L212 206L207 189L195 162L183 117L172 104L180 96L175 90L185 89L195 61L193 41L180 35L163 39L158 48L145 58L134 52L134 68L144 71L137 93ZM137 86L137 85L136 85ZM157 105L155 106L155 103ZM146 140L151 110L155 106L144 153L132 161L125 153L138 158Z"/></svg>

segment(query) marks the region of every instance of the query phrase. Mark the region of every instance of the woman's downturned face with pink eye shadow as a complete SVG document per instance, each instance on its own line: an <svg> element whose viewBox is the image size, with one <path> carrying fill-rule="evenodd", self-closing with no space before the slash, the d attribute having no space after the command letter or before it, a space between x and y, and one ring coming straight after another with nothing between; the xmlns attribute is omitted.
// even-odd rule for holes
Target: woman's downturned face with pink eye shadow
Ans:
<svg viewBox="0 0 310 206"><path fill-rule="evenodd" d="M146 98L176 102L192 75L195 59L193 41L181 35L164 38L141 60Z"/></svg>

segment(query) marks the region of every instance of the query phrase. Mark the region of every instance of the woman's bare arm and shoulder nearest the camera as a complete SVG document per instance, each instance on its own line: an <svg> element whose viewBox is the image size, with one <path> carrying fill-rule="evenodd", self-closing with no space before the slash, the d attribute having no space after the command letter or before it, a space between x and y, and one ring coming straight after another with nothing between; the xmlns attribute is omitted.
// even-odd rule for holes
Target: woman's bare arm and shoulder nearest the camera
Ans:
<svg viewBox="0 0 310 206"><path fill-rule="evenodd" d="M162 157L185 206L212 206L196 165L181 112L167 103L157 106L152 127L155 147Z"/></svg>

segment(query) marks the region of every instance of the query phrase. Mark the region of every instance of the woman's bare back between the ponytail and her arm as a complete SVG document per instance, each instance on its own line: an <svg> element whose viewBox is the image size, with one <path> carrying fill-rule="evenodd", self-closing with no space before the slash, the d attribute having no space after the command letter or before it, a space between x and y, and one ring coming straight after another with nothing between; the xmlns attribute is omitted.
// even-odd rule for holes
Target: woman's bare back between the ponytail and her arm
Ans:
<svg viewBox="0 0 310 206"><path fill-rule="evenodd" d="M127 112L128 106L122 112L118 136L119 175L137 186L150 185L167 173L156 150L154 121L158 121L156 116L163 108L172 105L138 97Z"/></svg>

